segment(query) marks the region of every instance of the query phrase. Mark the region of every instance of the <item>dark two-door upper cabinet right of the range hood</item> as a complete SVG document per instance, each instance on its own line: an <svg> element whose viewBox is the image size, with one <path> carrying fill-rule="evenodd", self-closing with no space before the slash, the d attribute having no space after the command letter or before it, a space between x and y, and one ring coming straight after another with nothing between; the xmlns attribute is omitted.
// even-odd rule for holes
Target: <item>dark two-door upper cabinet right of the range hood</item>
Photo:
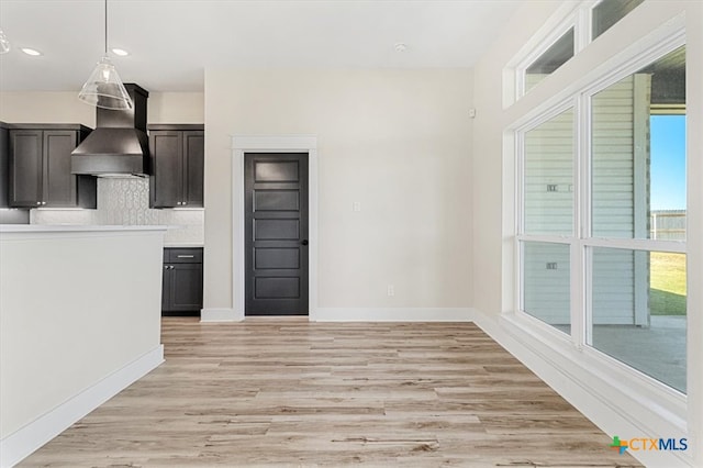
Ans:
<svg viewBox="0 0 703 468"><path fill-rule="evenodd" d="M203 207L203 125L148 125L152 208Z"/></svg>

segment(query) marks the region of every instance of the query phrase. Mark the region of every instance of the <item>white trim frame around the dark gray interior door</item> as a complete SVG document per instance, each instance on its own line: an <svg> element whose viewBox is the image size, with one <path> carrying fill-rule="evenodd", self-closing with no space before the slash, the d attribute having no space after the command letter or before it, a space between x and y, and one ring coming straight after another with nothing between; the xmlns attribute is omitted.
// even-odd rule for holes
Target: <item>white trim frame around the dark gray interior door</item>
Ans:
<svg viewBox="0 0 703 468"><path fill-rule="evenodd" d="M317 311L317 137L247 136L232 137L232 305L238 320L245 316L244 154L308 153L308 317Z"/></svg>

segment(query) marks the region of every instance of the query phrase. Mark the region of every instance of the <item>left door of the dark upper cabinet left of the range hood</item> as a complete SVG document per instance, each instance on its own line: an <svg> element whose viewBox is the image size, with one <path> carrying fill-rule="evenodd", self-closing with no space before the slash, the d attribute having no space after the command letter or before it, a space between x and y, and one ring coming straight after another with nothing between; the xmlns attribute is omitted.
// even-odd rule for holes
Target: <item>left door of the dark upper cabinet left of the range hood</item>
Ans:
<svg viewBox="0 0 703 468"><path fill-rule="evenodd" d="M42 146L41 130L10 131L10 207L41 205Z"/></svg>

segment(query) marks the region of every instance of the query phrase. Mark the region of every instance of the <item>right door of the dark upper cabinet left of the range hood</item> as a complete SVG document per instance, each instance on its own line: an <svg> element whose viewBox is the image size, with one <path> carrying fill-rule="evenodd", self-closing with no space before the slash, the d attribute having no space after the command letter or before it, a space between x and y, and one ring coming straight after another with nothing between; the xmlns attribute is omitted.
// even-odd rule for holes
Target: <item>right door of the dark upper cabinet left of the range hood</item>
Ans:
<svg viewBox="0 0 703 468"><path fill-rule="evenodd" d="M72 131L44 132L44 202L46 207L77 205L77 176L70 174L70 152L78 135Z"/></svg>

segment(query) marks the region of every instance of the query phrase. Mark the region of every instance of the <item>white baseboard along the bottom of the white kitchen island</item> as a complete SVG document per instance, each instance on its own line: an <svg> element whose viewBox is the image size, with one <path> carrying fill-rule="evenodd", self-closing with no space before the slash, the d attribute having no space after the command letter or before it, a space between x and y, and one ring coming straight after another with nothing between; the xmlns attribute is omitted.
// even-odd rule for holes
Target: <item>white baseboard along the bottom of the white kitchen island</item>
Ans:
<svg viewBox="0 0 703 468"><path fill-rule="evenodd" d="M164 345L87 388L0 441L0 467L12 467L164 363Z"/></svg>

